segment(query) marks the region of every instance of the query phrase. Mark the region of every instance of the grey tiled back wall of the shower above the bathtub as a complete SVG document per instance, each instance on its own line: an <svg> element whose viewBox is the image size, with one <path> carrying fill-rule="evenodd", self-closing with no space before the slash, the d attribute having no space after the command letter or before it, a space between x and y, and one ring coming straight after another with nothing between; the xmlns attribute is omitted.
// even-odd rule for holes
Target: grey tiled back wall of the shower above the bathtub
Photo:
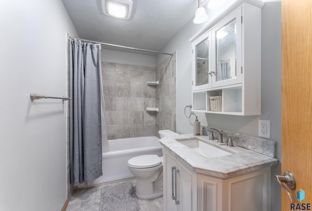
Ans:
<svg viewBox="0 0 312 211"><path fill-rule="evenodd" d="M155 67L102 62L102 82L108 139L157 135Z"/></svg>

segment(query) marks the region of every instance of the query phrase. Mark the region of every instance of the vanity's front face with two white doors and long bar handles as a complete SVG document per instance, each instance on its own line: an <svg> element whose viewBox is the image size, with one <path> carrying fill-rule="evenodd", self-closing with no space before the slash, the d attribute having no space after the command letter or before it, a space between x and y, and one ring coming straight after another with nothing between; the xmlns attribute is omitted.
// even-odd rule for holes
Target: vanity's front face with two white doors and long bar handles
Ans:
<svg viewBox="0 0 312 211"><path fill-rule="evenodd" d="M164 211L197 211L196 173L164 151Z"/></svg>

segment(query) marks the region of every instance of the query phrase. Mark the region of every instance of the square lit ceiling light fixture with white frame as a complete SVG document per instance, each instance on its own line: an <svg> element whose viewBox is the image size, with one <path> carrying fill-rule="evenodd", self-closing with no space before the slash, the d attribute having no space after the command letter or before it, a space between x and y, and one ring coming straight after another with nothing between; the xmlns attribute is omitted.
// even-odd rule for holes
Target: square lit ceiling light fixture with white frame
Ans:
<svg viewBox="0 0 312 211"><path fill-rule="evenodd" d="M132 0L102 0L102 10L105 15L130 19L132 12Z"/></svg>

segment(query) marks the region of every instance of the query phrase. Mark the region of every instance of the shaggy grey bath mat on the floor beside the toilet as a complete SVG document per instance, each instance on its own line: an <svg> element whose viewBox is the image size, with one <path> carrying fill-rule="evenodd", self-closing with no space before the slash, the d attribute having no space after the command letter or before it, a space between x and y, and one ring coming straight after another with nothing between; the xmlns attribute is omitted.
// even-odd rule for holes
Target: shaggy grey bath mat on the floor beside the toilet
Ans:
<svg viewBox="0 0 312 211"><path fill-rule="evenodd" d="M99 211L139 211L132 182L116 183L101 190Z"/></svg>

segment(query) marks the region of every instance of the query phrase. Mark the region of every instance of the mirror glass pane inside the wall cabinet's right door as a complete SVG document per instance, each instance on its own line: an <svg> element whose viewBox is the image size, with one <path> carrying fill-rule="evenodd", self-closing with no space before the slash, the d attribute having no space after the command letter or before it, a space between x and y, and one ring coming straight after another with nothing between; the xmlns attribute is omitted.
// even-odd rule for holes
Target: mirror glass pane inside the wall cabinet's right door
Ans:
<svg viewBox="0 0 312 211"><path fill-rule="evenodd" d="M216 81L236 77L236 19L218 29L216 36Z"/></svg>

